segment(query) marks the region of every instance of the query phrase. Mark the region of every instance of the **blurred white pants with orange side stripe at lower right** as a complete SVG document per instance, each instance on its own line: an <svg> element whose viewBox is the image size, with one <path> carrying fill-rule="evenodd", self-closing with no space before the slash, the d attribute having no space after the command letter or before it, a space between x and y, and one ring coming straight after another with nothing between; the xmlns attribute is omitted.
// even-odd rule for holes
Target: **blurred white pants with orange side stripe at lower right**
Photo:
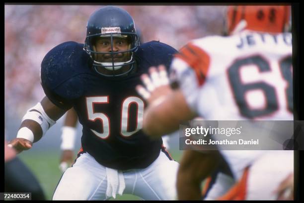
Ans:
<svg viewBox="0 0 304 203"><path fill-rule="evenodd" d="M265 151L219 200L276 200L275 190L294 171L294 151Z"/></svg>

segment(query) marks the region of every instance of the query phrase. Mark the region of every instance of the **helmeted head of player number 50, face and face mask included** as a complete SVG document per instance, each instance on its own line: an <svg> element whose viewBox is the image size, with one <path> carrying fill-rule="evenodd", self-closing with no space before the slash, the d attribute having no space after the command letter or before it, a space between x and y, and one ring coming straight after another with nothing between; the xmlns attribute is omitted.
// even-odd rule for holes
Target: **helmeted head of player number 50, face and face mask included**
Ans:
<svg viewBox="0 0 304 203"><path fill-rule="evenodd" d="M134 20L127 11L106 6L90 16L83 49L92 58L98 74L127 75L135 67L134 52L138 46Z"/></svg>

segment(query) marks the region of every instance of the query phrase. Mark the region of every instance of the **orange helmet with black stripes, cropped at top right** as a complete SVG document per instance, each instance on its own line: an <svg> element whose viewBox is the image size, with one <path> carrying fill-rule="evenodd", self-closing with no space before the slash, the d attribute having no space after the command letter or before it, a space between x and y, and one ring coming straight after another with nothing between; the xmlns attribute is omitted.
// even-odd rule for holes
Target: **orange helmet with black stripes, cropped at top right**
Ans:
<svg viewBox="0 0 304 203"><path fill-rule="evenodd" d="M229 5L227 8L226 31L228 34L241 20L245 29L261 32L285 32L289 29L291 6L289 5Z"/></svg>

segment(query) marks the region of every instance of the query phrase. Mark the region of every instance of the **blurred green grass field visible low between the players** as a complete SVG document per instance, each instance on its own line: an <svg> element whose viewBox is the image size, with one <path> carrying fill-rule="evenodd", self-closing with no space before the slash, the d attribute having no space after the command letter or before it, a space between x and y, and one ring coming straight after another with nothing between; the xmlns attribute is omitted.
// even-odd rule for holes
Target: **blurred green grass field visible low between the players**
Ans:
<svg viewBox="0 0 304 203"><path fill-rule="evenodd" d="M179 161L182 151L169 151L169 153L173 159ZM58 168L60 152L37 152L29 150L22 152L18 157L37 177L45 192L47 200L52 200L54 190L61 177L61 172ZM133 195L123 195L116 197L115 200L140 199Z"/></svg>

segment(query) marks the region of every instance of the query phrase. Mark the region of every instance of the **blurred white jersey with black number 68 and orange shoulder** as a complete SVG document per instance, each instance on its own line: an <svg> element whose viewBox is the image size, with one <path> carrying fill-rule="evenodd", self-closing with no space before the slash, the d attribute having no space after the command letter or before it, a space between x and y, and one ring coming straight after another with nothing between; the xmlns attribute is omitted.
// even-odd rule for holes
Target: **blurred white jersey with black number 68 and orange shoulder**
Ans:
<svg viewBox="0 0 304 203"><path fill-rule="evenodd" d="M171 65L188 105L206 120L293 120L292 35L242 31L192 40ZM265 151L221 151L234 175Z"/></svg>

